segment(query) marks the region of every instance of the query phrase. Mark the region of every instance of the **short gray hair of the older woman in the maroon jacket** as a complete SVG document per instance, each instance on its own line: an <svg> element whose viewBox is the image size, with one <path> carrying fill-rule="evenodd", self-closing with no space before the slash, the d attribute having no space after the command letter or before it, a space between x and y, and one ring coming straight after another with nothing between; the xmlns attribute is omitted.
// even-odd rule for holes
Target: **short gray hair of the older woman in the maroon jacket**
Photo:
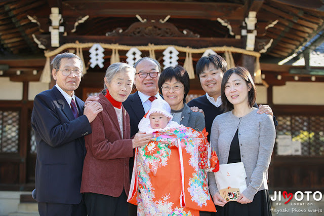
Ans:
<svg viewBox="0 0 324 216"><path fill-rule="evenodd" d="M112 81L112 79L117 74L119 74L121 72L126 72L126 71L131 71L131 73L134 75L134 79L135 79L136 69L124 62L117 62L117 63L111 64L106 70L105 78L107 79L107 82L110 83ZM107 93L106 89L107 89L107 87L104 84L104 89L101 91L101 93L106 94Z"/></svg>

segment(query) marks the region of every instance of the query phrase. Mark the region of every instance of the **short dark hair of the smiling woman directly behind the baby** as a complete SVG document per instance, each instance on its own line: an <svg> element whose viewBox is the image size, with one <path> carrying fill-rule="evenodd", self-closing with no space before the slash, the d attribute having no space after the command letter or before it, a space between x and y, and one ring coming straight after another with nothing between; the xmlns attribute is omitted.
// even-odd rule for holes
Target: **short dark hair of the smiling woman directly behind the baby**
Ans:
<svg viewBox="0 0 324 216"><path fill-rule="evenodd" d="M172 78L175 78L178 82L184 85L184 98L183 102L186 102L186 97L190 89L190 80L187 70L183 68L181 65L177 65L175 67L170 66L164 69L158 79L158 88L162 93L162 86L165 82L171 81Z"/></svg>

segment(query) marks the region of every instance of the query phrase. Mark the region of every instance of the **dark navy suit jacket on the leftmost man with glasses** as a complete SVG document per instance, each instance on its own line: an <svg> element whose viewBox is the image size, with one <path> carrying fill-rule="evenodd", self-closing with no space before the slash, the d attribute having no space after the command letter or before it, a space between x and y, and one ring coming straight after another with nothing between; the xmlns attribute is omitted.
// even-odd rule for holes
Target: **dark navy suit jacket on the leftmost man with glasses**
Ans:
<svg viewBox="0 0 324 216"><path fill-rule="evenodd" d="M79 117L54 86L35 96L31 126L35 131L37 160L35 170L38 202L78 204L86 154L84 136L91 133L83 115L84 102L75 97Z"/></svg>

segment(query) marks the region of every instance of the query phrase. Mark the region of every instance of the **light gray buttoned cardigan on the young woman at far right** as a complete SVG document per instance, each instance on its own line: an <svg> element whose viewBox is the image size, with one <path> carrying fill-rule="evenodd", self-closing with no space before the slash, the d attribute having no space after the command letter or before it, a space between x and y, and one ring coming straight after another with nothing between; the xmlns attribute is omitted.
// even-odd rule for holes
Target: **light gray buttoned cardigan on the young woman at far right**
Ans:
<svg viewBox="0 0 324 216"><path fill-rule="evenodd" d="M275 128L270 115L258 114L256 108L238 118L232 111L217 116L211 130L211 147L217 153L219 163L226 164L229 149L238 128L241 161L247 173L247 189L241 192L248 199L261 190L268 189L268 168L275 141ZM208 173L209 190L214 196L217 186L214 173Z"/></svg>

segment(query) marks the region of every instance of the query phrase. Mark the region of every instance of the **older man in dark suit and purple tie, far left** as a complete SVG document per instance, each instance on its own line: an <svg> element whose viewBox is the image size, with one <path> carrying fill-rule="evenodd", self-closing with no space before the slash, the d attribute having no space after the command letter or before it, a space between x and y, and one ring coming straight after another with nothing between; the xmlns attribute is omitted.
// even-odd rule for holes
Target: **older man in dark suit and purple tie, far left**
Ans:
<svg viewBox="0 0 324 216"><path fill-rule="evenodd" d="M84 102L74 95L83 71L82 60L72 54L52 61L56 85L36 95L31 117L37 160L35 195L42 215L87 215L80 193L86 154L84 136L102 111L98 102Z"/></svg>

